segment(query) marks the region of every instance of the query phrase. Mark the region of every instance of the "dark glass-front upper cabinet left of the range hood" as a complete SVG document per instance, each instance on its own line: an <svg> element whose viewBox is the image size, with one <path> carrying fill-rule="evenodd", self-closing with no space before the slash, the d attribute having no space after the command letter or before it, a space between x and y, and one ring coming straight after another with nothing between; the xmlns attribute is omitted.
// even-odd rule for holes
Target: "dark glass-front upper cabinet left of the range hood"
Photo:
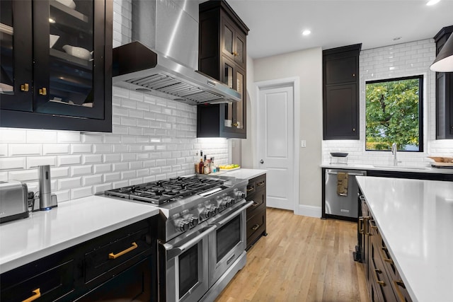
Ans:
<svg viewBox="0 0 453 302"><path fill-rule="evenodd" d="M112 1L1 1L1 127L111 132Z"/></svg>

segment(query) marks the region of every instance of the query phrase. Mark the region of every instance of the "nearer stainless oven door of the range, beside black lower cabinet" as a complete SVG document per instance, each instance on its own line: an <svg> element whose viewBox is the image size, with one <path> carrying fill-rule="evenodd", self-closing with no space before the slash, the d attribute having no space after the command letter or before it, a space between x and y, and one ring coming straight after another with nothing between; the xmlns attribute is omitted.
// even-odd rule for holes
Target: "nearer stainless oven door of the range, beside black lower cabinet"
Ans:
<svg viewBox="0 0 453 302"><path fill-rule="evenodd" d="M159 244L159 300L198 301L209 289L207 226L183 239Z"/></svg>

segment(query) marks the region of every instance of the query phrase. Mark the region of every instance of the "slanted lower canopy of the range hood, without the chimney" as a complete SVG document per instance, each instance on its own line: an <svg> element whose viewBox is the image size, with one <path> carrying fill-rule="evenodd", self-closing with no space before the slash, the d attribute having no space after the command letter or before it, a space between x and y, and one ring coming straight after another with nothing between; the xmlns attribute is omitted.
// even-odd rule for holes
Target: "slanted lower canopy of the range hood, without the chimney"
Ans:
<svg viewBox="0 0 453 302"><path fill-rule="evenodd" d="M137 41L113 49L113 85L190 105L238 102L241 98L224 83Z"/></svg>

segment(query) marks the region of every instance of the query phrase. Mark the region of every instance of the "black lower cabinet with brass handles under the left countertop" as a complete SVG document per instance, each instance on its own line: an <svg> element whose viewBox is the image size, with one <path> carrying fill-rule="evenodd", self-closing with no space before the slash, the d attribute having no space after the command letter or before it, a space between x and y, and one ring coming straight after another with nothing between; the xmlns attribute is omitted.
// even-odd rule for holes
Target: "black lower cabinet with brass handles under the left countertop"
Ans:
<svg viewBox="0 0 453 302"><path fill-rule="evenodd" d="M0 275L0 301L156 301L156 219Z"/></svg>

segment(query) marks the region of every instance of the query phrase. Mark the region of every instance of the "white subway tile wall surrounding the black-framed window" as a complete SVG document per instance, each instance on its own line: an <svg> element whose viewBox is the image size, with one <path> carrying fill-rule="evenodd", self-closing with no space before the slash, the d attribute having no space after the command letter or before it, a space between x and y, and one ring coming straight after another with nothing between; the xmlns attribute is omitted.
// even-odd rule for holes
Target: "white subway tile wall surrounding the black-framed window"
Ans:
<svg viewBox="0 0 453 302"><path fill-rule="evenodd" d="M430 65L435 59L432 39L379 47L360 52L360 140L323 141L323 161L330 162L331 151L349 153L348 163L389 165L390 151L365 151L365 81L422 74L423 152L398 152L399 165L429 165L429 155L453 156L452 139L435 139L435 72Z"/></svg>

